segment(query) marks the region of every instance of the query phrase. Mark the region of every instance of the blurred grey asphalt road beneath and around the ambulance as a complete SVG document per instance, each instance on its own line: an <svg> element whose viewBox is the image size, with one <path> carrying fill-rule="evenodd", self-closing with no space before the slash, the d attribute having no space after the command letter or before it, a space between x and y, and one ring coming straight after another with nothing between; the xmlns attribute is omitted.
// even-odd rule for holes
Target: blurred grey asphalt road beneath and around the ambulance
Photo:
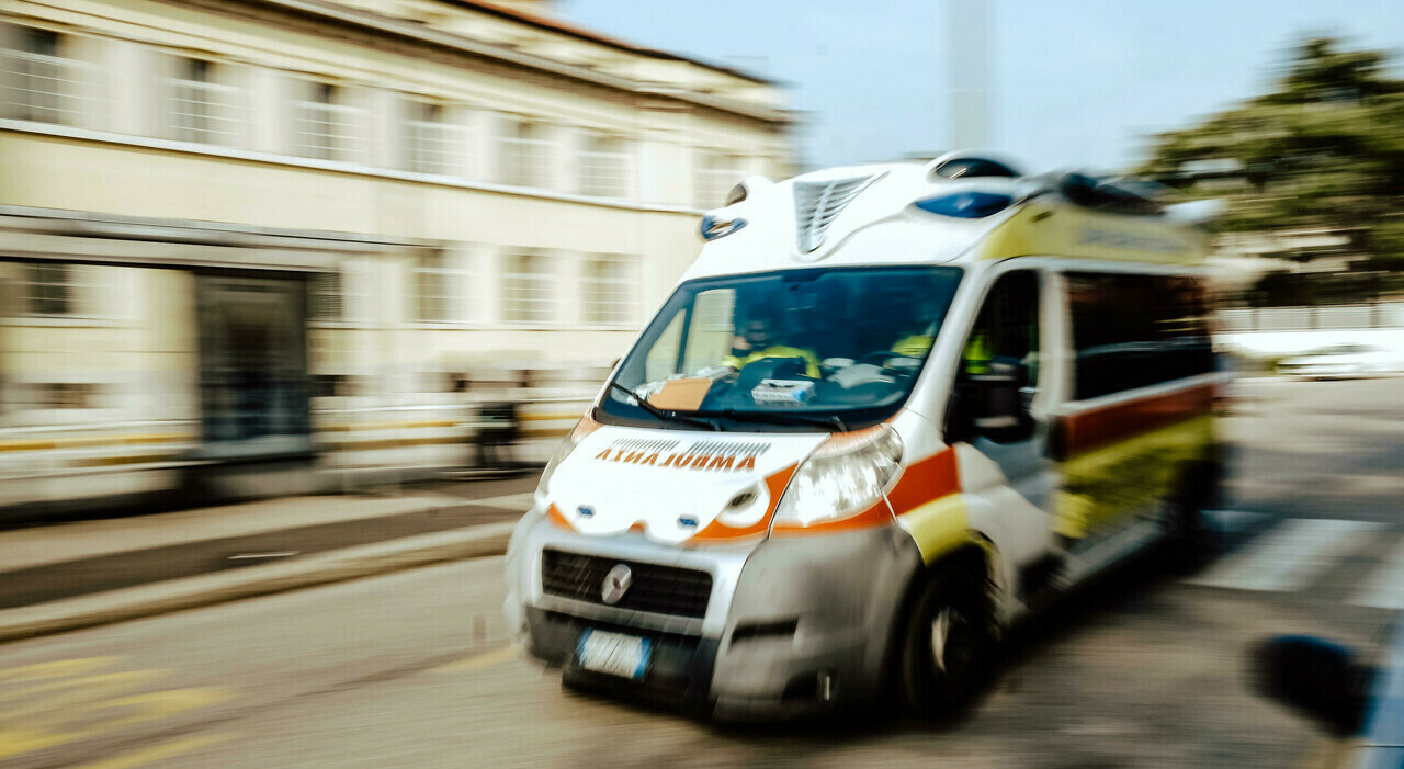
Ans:
<svg viewBox="0 0 1404 769"><path fill-rule="evenodd" d="M951 727L722 727L564 692L504 646L487 559L0 647L0 766L1290 766L1317 737L1248 690L1244 650L1383 640L1398 384L1245 386L1221 559L1066 601Z"/></svg>

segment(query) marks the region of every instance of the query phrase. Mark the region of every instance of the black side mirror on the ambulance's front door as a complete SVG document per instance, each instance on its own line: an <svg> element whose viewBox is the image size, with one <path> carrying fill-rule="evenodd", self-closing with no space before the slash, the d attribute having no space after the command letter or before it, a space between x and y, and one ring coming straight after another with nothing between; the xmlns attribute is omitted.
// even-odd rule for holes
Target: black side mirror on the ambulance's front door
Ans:
<svg viewBox="0 0 1404 769"><path fill-rule="evenodd" d="M1028 410L1028 366L1015 358L994 358L980 373L966 373L956 383L946 415L948 441L983 436L995 443L1033 435Z"/></svg>

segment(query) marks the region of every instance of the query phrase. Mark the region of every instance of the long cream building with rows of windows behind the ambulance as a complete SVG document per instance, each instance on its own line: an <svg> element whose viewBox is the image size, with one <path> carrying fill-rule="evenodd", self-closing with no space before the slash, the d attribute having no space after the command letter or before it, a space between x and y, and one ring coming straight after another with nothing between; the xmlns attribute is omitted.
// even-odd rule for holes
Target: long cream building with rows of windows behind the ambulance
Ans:
<svg viewBox="0 0 1404 769"><path fill-rule="evenodd" d="M6 3L0 507L452 464L483 372L608 366L792 114L550 10Z"/></svg>

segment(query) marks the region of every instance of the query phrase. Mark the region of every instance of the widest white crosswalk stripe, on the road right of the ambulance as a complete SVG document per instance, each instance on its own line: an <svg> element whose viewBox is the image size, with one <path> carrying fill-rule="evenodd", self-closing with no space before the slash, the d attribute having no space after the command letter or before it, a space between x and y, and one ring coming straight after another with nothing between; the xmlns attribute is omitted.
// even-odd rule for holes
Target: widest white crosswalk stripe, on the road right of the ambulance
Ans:
<svg viewBox="0 0 1404 769"><path fill-rule="evenodd" d="M1241 591L1302 589L1382 529L1383 523L1365 521L1293 518L1186 582Z"/></svg>

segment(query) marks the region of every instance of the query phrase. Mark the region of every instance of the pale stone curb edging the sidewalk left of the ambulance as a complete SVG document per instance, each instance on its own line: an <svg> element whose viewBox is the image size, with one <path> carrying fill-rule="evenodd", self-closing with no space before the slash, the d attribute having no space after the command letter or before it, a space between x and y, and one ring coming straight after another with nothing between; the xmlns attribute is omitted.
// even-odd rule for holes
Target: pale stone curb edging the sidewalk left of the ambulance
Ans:
<svg viewBox="0 0 1404 769"><path fill-rule="evenodd" d="M344 582L437 563L501 556L515 522L399 537L253 566L0 610L0 643L67 633L241 598Z"/></svg>

